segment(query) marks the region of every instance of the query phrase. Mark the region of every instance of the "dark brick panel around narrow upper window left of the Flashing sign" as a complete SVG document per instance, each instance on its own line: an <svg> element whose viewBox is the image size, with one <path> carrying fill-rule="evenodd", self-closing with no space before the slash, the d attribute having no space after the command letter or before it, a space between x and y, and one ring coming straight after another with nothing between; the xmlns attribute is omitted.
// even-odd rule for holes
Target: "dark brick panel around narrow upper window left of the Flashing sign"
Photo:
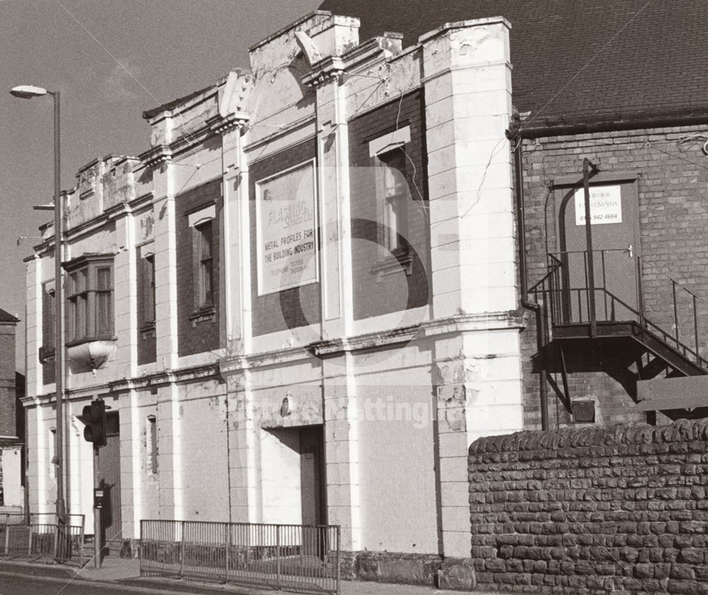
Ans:
<svg viewBox="0 0 708 595"><path fill-rule="evenodd" d="M192 355L219 349L219 213L222 209L222 180L212 180L176 197L177 232L177 316L178 353ZM194 303L194 261L193 229L189 226L189 214L215 204L217 217L212 226L212 266L214 271L213 296L214 316L209 320L193 321ZM158 257L159 258L159 255Z"/></svg>

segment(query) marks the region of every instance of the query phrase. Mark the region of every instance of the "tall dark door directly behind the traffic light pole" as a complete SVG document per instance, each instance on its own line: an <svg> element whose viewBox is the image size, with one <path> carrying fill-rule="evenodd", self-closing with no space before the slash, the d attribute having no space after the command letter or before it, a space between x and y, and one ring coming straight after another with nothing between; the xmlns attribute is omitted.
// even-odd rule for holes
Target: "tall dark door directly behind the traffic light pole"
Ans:
<svg viewBox="0 0 708 595"><path fill-rule="evenodd" d="M101 533L103 543L120 543L120 424L118 412L106 415L106 444L98 449L98 485L103 487Z"/></svg>

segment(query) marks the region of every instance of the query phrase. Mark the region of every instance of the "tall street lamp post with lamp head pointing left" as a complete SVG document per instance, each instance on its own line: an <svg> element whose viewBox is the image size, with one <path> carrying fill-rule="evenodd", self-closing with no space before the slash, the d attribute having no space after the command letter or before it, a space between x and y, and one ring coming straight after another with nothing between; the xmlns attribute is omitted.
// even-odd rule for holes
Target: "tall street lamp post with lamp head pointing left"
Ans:
<svg viewBox="0 0 708 595"><path fill-rule="evenodd" d="M31 99L51 95L54 98L54 279L55 279L55 382L57 403L57 520L64 522L64 284L62 283L62 250L64 245L64 209L62 207L62 161L59 137L59 91L22 85L10 93Z"/></svg>

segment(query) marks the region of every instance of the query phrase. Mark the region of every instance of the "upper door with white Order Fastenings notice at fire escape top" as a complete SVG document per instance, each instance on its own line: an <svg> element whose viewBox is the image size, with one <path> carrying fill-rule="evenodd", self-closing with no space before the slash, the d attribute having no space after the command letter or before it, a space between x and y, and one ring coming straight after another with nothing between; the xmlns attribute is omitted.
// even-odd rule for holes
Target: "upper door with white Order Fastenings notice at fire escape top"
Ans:
<svg viewBox="0 0 708 595"><path fill-rule="evenodd" d="M559 192L559 259L564 263L564 313L568 322L589 320L589 258L585 196L580 187ZM556 195L558 197L558 195ZM638 309L639 204L636 182L590 185L595 312L598 320L634 320Z"/></svg>

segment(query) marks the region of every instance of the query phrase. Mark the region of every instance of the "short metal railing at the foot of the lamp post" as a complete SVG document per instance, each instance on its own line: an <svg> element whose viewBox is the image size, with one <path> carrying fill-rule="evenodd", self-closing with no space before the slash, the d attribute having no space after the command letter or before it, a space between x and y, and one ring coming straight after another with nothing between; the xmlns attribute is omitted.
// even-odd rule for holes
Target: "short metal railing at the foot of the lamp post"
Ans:
<svg viewBox="0 0 708 595"><path fill-rule="evenodd" d="M57 562L83 560L84 515L0 514L0 555L8 558L51 558Z"/></svg>

